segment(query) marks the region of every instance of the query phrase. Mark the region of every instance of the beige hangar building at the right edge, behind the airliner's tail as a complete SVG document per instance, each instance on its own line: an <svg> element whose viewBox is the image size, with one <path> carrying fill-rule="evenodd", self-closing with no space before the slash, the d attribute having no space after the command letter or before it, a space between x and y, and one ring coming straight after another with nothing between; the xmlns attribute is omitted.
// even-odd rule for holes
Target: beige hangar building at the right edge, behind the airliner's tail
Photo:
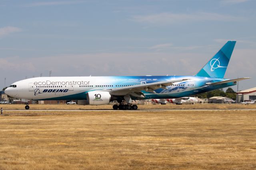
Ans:
<svg viewBox="0 0 256 170"><path fill-rule="evenodd" d="M236 92L236 103L256 100L256 87Z"/></svg>

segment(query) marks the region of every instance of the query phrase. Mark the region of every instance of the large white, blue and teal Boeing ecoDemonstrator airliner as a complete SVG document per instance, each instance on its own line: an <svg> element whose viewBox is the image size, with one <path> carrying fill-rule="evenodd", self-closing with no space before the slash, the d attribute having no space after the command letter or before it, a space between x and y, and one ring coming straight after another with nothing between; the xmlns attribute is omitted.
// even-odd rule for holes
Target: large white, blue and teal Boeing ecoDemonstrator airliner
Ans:
<svg viewBox="0 0 256 170"><path fill-rule="evenodd" d="M235 44L228 41L194 76L36 77L13 83L5 93L24 100L87 100L89 105L116 100L113 109L137 109L132 100L186 97L250 78L224 79Z"/></svg>

